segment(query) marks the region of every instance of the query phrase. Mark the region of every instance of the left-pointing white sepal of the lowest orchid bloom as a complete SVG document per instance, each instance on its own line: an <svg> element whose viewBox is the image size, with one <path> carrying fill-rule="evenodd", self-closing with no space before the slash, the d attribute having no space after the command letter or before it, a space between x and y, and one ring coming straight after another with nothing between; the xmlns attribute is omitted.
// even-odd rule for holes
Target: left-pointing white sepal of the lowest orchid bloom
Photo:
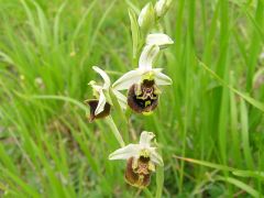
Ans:
<svg viewBox="0 0 264 198"><path fill-rule="evenodd" d="M114 160L129 160L130 157L138 157L140 152L139 144L129 144L121 147L109 155L110 161Z"/></svg>

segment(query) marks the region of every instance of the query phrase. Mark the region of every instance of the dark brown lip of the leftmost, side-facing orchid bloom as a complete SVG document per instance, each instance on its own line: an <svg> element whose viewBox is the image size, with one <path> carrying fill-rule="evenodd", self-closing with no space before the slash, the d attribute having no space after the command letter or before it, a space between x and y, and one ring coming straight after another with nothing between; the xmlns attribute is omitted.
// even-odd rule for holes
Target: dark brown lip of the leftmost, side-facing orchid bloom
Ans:
<svg viewBox="0 0 264 198"><path fill-rule="evenodd" d="M85 103L87 103L90 107L90 117L89 117L89 122L92 122L95 119L102 119L106 118L107 116L110 114L111 106L110 103L106 103L103 111L100 112L99 114L96 114L96 108L98 106L99 100L97 99L91 99L91 100L86 100Z"/></svg>

